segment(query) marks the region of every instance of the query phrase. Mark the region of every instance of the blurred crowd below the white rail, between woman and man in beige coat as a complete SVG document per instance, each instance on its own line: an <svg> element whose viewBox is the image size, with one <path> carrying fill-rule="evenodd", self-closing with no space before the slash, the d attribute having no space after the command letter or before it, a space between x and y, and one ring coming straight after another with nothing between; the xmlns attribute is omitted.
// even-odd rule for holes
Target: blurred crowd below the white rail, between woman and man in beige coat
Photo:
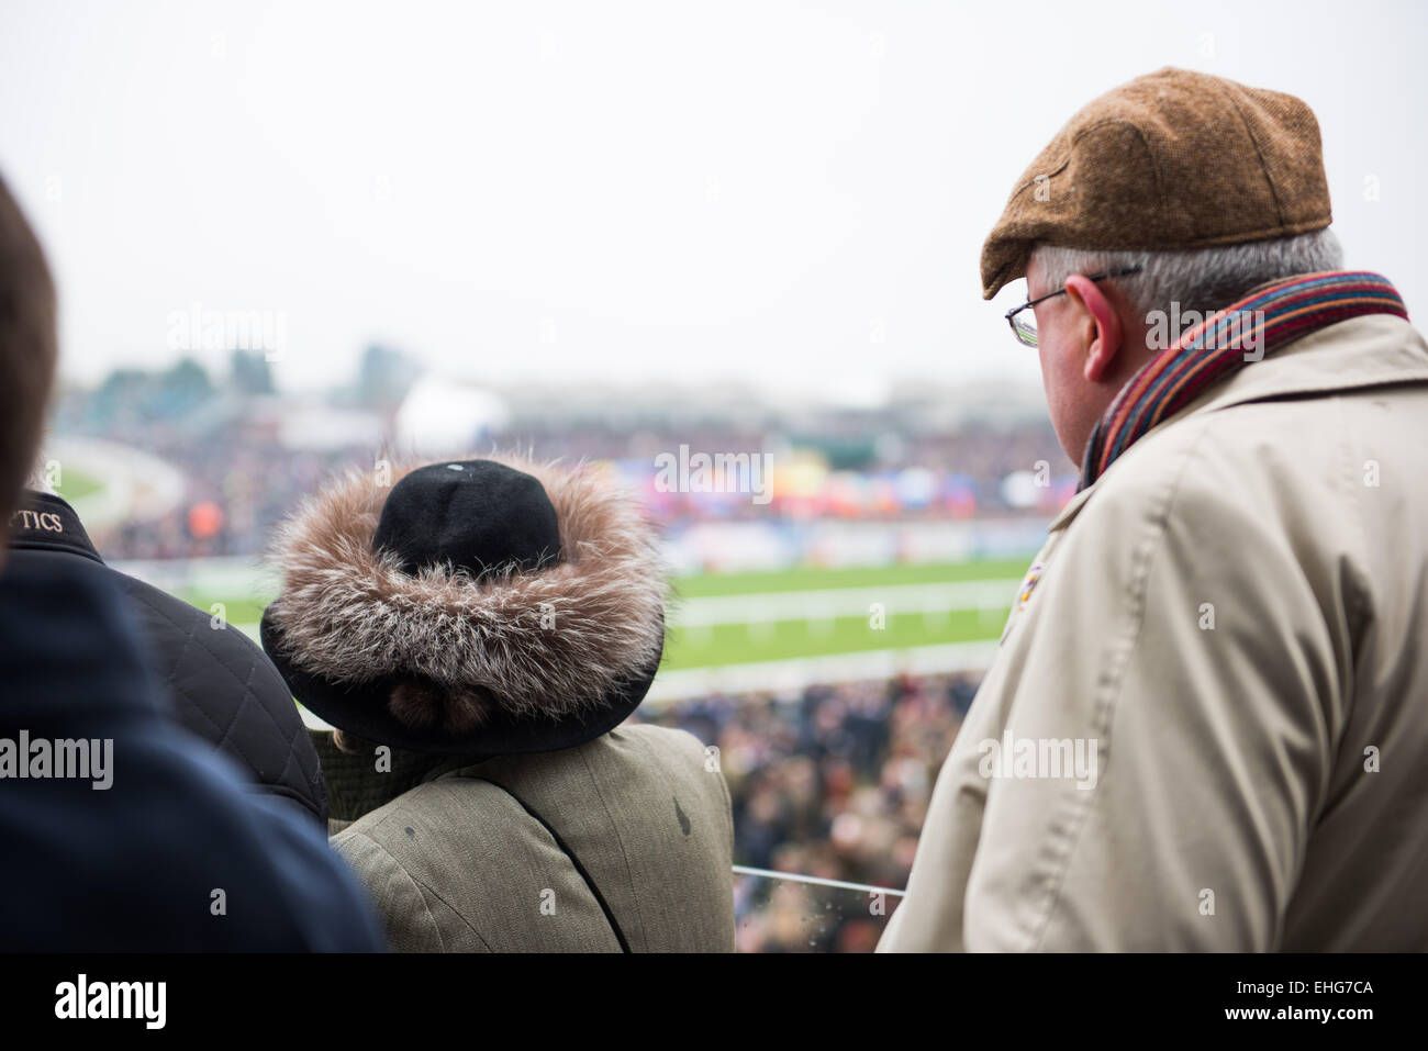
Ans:
<svg viewBox="0 0 1428 1051"><path fill-rule="evenodd" d="M740 865L907 887L937 771L980 675L810 687L794 697L707 697L647 713L718 748ZM744 877L743 952L865 952L892 895Z"/></svg>

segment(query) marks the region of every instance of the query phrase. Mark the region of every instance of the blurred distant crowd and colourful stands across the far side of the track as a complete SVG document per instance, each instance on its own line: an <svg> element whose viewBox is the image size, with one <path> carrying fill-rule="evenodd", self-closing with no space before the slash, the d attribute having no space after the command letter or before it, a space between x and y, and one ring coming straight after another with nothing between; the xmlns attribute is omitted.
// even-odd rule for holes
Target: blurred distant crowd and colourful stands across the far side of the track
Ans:
<svg viewBox="0 0 1428 1051"><path fill-rule="evenodd" d="M261 553L283 517L323 478L350 467L371 470L384 454L388 443L381 436L393 434L400 407L390 391L378 393L386 390L378 380L400 366L388 358L378 356L353 386L327 396L326 408L346 413L366 437L340 434L318 446L293 441L301 428L291 424L311 403L278 394L261 358L236 356L234 377L241 383L220 384L186 360L163 373L129 370L94 390L66 391L56 411L57 434L121 441L183 477L176 506L157 516L131 516L123 527L97 526L100 550L116 558ZM367 371L377 376L363 380ZM613 481L673 530L711 521L1045 517L1075 486L1074 468L1044 417L927 427L910 423L895 406L855 418L765 414L754 423L524 413L500 427L473 430L470 448L493 447L603 463ZM700 490L697 481L688 491L670 490L660 480L657 457L677 457L681 448L744 456L744 463L767 454L760 461L764 473L730 476L715 491ZM765 487L765 498L751 498L750 486Z"/></svg>

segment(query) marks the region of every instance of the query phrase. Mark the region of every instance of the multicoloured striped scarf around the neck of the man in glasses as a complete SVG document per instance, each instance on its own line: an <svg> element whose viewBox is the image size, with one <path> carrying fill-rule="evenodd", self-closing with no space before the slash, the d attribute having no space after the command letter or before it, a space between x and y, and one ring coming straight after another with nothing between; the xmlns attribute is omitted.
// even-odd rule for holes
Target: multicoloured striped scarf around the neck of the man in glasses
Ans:
<svg viewBox="0 0 1428 1051"><path fill-rule="evenodd" d="M1091 431L1077 491L1105 474L1141 436L1211 384L1289 340L1361 314L1407 318L1408 310L1387 277L1332 270L1287 277L1211 314L1152 358L1115 396Z"/></svg>

